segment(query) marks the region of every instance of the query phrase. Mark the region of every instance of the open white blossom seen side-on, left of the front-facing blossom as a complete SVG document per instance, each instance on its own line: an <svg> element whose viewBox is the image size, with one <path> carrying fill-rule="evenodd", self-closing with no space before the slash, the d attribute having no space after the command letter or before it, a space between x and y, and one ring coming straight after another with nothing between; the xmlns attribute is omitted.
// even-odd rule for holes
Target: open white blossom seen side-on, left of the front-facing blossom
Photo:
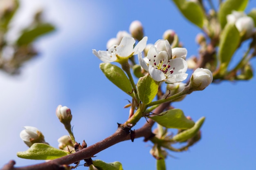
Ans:
<svg viewBox="0 0 256 170"><path fill-rule="evenodd" d="M112 46L107 51L92 50L92 53L96 55L103 62L122 62L128 60L132 55L136 55L139 51L143 51L148 37L142 38L138 44L134 46L135 40L132 37L124 37L118 46Z"/></svg>

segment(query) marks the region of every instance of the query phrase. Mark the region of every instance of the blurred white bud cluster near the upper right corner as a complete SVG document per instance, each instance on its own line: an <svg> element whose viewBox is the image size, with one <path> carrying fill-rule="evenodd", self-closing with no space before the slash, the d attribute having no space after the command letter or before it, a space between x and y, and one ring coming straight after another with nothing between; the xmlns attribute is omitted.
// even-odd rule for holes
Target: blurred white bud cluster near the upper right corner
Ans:
<svg viewBox="0 0 256 170"><path fill-rule="evenodd" d="M232 11L227 15L227 22L235 24L240 33L245 33L245 38L249 38L255 32L254 20L242 11Z"/></svg>

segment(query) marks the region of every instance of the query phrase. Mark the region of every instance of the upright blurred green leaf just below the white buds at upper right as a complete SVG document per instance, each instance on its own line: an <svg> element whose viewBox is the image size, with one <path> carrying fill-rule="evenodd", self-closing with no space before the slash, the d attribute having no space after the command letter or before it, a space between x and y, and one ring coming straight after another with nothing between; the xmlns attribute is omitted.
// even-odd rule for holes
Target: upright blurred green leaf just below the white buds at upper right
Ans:
<svg viewBox="0 0 256 170"><path fill-rule="evenodd" d="M234 55L239 43L240 33L234 24L227 24L220 35L218 57L221 64L221 71L225 72L229 62Z"/></svg>

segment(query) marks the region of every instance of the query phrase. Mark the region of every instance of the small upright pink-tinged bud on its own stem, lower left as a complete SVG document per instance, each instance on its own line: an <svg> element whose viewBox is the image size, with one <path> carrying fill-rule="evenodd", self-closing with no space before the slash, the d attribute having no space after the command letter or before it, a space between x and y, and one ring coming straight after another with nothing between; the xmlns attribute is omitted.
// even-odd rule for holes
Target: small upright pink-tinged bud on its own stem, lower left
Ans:
<svg viewBox="0 0 256 170"><path fill-rule="evenodd" d="M72 119L71 110L67 106L58 105L56 108L56 116L63 124L70 124Z"/></svg>

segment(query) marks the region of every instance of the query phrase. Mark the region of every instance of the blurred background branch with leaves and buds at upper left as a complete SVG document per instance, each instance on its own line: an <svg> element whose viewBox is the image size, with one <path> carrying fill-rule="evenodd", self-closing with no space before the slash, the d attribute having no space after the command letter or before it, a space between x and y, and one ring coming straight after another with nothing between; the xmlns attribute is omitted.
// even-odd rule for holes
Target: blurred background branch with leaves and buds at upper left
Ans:
<svg viewBox="0 0 256 170"><path fill-rule="evenodd" d="M11 42L6 35L11 30L10 23L18 9L18 0L0 0L0 69L11 75L19 74L20 67L36 57L38 51L34 42L55 30L52 24L43 20L43 11L38 10L32 22L20 30L16 40Z"/></svg>

